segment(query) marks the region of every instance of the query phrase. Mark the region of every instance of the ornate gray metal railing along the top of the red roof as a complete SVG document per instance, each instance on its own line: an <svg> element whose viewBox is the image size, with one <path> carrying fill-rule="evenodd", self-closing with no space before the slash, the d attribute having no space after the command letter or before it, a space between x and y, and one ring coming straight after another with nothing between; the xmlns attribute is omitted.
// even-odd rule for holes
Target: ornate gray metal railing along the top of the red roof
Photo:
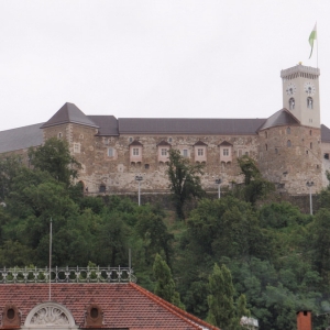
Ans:
<svg viewBox="0 0 330 330"><path fill-rule="evenodd" d="M51 268L52 283L136 283L129 267L65 267ZM50 283L50 268L0 268L0 284Z"/></svg>

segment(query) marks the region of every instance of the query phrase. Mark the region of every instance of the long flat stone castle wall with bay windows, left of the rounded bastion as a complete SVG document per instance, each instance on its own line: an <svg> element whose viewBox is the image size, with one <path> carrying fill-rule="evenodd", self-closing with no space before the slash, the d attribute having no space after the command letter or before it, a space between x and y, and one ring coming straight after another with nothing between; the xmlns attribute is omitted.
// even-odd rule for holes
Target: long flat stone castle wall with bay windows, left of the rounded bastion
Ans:
<svg viewBox="0 0 330 330"><path fill-rule="evenodd" d="M73 155L81 163L82 169L79 180L84 183L88 193L99 193L103 186L106 193L132 193L138 189L136 175L142 175L142 191L167 191L167 165L158 161L160 147L157 144L172 141L172 147L182 152L188 151L190 162L197 162L194 144L202 141L206 146L205 175L201 177L202 186L208 189L216 187L215 179L221 178L223 186L232 182L240 183L240 169L237 158L244 154L256 158L258 148L257 135L220 136L220 135L143 135L143 136L97 136L96 130L78 124L44 129L45 139L57 136L58 132L66 132ZM131 162L130 143L139 141L142 146L141 162ZM223 141L232 144L231 162L220 157L219 144ZM79 147L76 145L79 144ZM111 151L109 152L109 148Z"/></svg>

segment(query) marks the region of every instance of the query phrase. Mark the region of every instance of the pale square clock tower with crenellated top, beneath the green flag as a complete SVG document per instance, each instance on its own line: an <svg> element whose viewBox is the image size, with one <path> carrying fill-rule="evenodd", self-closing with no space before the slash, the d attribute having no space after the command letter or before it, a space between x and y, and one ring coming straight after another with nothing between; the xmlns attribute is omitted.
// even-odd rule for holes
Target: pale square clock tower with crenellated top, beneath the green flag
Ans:
<svg viewBox="0 0 330 330"><path fill-rule="evenodd" d="M298 64L280 72L283 108L305 127L320 128L320 69Z"/></svg>

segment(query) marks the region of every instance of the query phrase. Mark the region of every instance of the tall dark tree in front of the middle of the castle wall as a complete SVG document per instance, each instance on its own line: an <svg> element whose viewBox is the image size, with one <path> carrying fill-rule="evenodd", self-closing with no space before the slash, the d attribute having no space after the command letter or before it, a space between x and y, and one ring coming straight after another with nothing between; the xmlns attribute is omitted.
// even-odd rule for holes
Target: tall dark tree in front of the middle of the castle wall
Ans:
<svg viewBox="0 0 330 330"><path fill-rule="evenodd" d="M189 160L180 155L178 150L169 150L169 164L167 175L169 188L173 193L173 199L176 208L176 215L184 219L184 205L193 197L199 198L205 191L200 184L204 165L189 164Z"/></svg>

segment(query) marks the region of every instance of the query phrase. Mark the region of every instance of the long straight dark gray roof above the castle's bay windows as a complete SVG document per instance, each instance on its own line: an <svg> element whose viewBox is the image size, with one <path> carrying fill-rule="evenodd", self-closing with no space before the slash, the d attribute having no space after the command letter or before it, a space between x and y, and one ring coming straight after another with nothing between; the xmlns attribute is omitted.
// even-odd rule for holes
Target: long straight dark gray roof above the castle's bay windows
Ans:
<svg viewBox="0 0 330 330"><path fill-rule="evenodd" d="M119 118L120 134L254 135L266 119Z"/></svg>

